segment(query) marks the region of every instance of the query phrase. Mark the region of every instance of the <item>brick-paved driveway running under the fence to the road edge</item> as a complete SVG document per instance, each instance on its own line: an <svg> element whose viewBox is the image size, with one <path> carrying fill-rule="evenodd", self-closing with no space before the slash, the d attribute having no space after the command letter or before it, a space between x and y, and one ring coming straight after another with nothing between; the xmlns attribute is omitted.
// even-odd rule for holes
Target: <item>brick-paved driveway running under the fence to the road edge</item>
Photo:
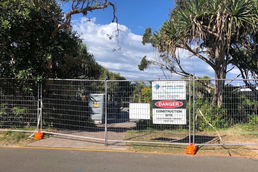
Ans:
<svg viewBox="0 0 258 172"><path fill-rule="evenodd" d="M123 128L129 129L135 127L135 123L120 123L120 124L112 124L112 127L115 128ZM67 130L60 131L60 133L67 133ZM107 149L107 150L127 150L127 146L125 146L125 142L108 142L108 145L104 145L104 131L98 132L77 132L70 131L68 135L73 136L84 136L89 138L81 138L81 137L73 137L73 136L64 136L64 135L53 135L49 138L43 138L40 141L36 141L34 143L30 143L27 146L33 147L64 147L64 148L80 148L80 149ZM108 131L107 139L108 140L124 140L125 133L123 130L120 132L112 132ZM91 139L91 138L99 138Z"/></svg>

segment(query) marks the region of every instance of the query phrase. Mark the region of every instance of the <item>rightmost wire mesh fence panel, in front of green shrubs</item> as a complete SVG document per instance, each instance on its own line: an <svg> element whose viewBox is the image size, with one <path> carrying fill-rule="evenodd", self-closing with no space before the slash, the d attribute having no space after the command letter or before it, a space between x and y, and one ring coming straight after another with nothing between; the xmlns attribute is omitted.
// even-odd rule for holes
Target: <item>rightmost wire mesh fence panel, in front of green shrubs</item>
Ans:
<svg viewBox="0 0 258 172"><path fill-rule="evenodd" d="M258 145L257 80L194 83L196 144Z"/></svg>

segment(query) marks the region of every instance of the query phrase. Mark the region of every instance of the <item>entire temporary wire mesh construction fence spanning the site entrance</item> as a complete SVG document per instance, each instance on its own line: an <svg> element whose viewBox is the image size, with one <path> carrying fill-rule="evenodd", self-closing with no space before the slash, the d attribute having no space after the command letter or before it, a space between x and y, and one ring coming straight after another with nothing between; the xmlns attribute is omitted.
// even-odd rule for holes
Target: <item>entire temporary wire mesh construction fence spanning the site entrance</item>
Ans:
<svg viewBox="0 0 258 172"><path fill-rule="evenodd" d="M256 82L1 79L0 130L33 127L105 145L258 145Z"/></svg>

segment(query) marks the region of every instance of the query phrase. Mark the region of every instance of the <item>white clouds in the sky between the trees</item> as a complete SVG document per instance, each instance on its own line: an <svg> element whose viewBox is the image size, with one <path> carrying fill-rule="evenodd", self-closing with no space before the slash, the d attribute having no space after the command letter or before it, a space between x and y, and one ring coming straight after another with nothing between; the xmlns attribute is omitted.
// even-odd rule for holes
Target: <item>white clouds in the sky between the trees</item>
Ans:
<svg viewBox="0 0 258 172"><path fill-rule="evenodd" d="M107 34L112 35L116 31L116 23L107 25L95 24L96 18L91 22L86 22L86 18L80 18L72 21L73 30L81 34L81 38L89 45L89 51L95 56L98 63L109 71L120 73L127 80L157 80L159 77L165 79L163 71L158 67L152 66L146 71L139 71L138 65L145 55L148 59L153 59L154 49L150 45L142 45L142 36L133 34L125 25L118 25L120 32L119 43L121 51L113 51L118 48L116 39L110 40ZM115 33L117 34L117 33ZM189 73L195 73L196 76L208 75L214 78L213 69L204 61L197 57L187 58L185 51L180 51L180 62L183 69ZM171 75L165 71L166 75ZM228 75L235 77L237 69L230 71ZM181 76L172 74L172 79L180 79ZM227 78L233 78L227 77Z"/></svg>

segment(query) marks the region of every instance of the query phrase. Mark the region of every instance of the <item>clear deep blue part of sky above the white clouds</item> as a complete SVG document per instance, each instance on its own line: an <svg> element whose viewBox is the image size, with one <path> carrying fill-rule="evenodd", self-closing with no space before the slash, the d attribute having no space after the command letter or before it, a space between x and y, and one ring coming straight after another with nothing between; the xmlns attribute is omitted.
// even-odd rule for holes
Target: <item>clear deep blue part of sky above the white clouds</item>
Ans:
<svg viewBox="0 0 258 172"><path fill-rule="evenodd" d="M112 1L116 4L116 16L121 25L126 25L137 35L144 34L147 27L159 28L166 19L169 19L169 9L174 7L174 0L119 0ZM73 15L72 19L82 15ZM96 18L96 23L105 25L113 19L113 8L87 13L86 18Z"/></svg>

